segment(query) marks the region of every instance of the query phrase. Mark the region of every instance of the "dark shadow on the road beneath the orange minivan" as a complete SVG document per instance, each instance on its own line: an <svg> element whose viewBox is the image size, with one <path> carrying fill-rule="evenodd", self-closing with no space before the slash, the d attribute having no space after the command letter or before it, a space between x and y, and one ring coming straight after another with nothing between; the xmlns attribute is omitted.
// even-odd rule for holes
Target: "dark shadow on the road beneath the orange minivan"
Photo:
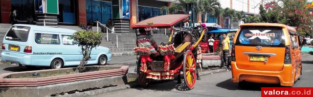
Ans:
<svg viewBox="0 0 313 97"><path fill-rule="evenodd" d="M246 91L261 91L261 87L284 87L280 86L280 84L266 84L253 82L244 82L243 85L239 86L238 83L233 83L230 81L230 79L217 83L216 86L227 90L246 90Z"/></svg>

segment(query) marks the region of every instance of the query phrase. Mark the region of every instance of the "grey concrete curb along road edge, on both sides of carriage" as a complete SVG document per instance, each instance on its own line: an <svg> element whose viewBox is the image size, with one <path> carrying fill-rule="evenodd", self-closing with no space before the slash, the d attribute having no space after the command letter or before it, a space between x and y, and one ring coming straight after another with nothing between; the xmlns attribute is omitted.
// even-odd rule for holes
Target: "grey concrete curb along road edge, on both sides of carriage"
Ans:
<svg viewBox="0 0 313 97"><path fill-rule="evenodd" d="M199 72L199 75L204 76L204 75L208 75L212 73L219 73L219 72L224 72L224 71L226 71L226 69L214 69L210 71ZM62 96L57 96L57 97L87 97L87 96L93 96L93 95L98 95L98 94L111 93L111 92L115 92L119 90L126 90L129 88L134 88L138 86L140 86L139 83L131 83L131 84L108 87L108 88L103 88L103 89L90 90L86 92L67 94L67 95L62 95Z"/></svg>

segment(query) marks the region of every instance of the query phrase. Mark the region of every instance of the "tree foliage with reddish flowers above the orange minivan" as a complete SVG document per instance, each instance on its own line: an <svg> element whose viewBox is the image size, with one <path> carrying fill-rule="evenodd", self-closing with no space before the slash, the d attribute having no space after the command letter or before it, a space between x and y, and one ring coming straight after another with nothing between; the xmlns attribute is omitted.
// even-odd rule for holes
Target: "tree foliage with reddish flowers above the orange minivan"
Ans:
<svg viewBox="0 0 313 97"><path fill-rule="evenodd" d="M312 35L311 25L313 16L312 8L306 7L306 0L280 0L271 1L260 6L262 22L281 23L297 27L299 33Z"/></svg>

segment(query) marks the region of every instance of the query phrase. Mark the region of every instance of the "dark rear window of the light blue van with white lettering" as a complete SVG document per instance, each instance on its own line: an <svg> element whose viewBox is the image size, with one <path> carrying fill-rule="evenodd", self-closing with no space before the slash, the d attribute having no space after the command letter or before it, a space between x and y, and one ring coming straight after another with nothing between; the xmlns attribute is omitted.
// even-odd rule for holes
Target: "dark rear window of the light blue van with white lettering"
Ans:
<svg viewBox="0 0 313 97"><path fill-rule="evenodd" d="M30 27L13 26L6 34L5 39L25 42L27 41L29 31Z"/></svg>

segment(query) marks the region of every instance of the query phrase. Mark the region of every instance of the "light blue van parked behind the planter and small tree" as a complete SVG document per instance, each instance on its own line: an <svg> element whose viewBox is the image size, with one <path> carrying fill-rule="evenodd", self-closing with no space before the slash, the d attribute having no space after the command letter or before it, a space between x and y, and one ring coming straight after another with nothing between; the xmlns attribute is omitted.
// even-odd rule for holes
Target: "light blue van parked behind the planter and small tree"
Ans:
<svg viewBox="0 0 313 97"><path fill-rule="evenodd" d="M2 42L2 62L20 65L63 66L79 65L82 54L78 45L73 44L74 30L43 27L36 25L13 25L5 34ZM87 65L106 65L111 61L110 49L95 47Z"/></svg>

